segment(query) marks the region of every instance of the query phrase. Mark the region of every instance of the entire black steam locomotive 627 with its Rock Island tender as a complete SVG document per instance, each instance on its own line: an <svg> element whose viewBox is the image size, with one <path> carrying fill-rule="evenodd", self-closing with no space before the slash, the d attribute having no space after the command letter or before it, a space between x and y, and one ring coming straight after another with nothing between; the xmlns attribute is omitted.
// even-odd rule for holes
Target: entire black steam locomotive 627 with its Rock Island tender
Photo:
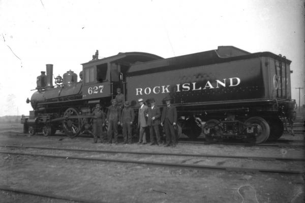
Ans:
<svg viewBox="0 0 305 203"><path fill-rule="evenodd" d="M120 87L137 109L137 99L170 96L178 123L190 138L201 133L209 142L224 138L252 143L279 139L292 130L294 100L290 86L291 61L270 52L249 53L233 46L164 59L127 52L83 63L81 80L72 71L52 84L52 65L38 77L32 95L33 111L22 118L29 133L45 136L65 130L71 138L90 131L92 107L110 105ZM44 83L44 80L46 82ZM136 111L137 113L137 111Z"/></svg>

